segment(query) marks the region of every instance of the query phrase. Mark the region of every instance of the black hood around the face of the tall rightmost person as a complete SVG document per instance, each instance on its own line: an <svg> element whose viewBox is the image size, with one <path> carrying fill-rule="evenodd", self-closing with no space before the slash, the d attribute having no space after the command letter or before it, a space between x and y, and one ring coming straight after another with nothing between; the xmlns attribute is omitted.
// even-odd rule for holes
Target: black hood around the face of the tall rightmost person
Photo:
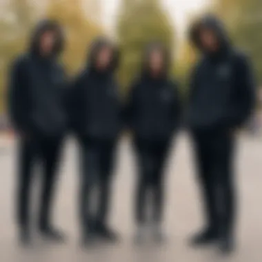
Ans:
<svg viewBox="0 0 262 262"><path fill-rule="evenodd" d="M228 49L230 47L230 40L222 21L208 14L196 21L190 29L190 41L202 52L205 52L205 50L199 39L199 30L201 30L201 28L208 28L216 34L221 49Z"/></svg>

